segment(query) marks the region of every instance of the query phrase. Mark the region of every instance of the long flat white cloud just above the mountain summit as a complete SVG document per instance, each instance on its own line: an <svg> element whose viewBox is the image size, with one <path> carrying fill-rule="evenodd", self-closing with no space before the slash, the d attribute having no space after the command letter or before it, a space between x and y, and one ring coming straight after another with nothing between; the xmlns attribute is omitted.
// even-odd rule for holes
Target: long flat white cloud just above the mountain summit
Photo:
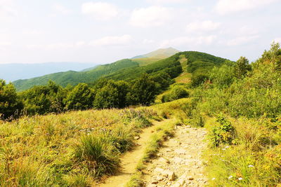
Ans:
<svg viewBox="0 0 281 187"><path fill-rule="evenodd" d="M179 37L176 39L165 40L161 43L161 47L170 47L170 46L201 46L201 45L210 45L214 42L216 36L198 36L198 37Z"/></svg>

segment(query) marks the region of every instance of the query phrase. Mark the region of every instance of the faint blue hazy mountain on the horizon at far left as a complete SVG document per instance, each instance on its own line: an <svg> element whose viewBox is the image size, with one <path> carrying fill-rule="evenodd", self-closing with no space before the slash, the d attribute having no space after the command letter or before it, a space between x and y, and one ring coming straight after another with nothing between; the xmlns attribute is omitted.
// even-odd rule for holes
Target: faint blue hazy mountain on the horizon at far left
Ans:
<svg viewBox="0 0 281 187"><path fill-rule="evenodd" d="M43 64L0 64L0 78L9 81L34 78L61 71L81 71L95 66L80 62L48 62Z"/></svg>

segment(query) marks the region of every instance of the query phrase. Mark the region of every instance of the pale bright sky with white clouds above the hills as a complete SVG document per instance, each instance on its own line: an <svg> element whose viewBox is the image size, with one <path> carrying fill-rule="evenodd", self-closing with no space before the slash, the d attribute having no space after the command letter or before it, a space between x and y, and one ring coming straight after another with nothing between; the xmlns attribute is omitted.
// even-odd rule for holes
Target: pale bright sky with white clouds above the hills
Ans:
<svg viewBox="0 0 281 187"><path fill-rule="evenodd" d="M0 0L0 64L104 64L158 48L258 59L281 0Z"/></svg>

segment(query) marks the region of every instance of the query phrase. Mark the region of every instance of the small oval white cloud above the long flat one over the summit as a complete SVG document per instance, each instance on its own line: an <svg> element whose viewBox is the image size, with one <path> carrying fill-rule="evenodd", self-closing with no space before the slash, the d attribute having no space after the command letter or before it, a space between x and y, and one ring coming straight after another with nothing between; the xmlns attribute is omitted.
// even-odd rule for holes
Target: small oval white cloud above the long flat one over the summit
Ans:
<svg viewBox="0 0 281 187"><path fill-rule="evenodd" d="M203 22L191 22L186 26L188 32L209 32L218 29L220 22L206 20Z"/></svg>

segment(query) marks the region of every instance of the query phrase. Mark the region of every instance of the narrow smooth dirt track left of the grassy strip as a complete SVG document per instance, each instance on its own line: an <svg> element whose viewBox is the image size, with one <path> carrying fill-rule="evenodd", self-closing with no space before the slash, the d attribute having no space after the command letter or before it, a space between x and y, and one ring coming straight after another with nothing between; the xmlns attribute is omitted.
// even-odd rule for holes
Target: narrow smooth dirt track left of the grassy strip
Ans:
<svg viewBox="0 0 281 187"><path fill-rule="evenodd" d="M120 172L115 176L110 176L110 178L108 178L105 183L101 183L95 186L123 187L129 181L131 175L136 172L136 165L138 164L138 160L142 158L143 152L145 150L145 144L149 140L152 132L155 130L155 127L164 122L166 122L166 120L162 122L156 121L151 127L145 128L140 134L141 138L136 141L136 144L138 146L122 156Z"/></svg>

